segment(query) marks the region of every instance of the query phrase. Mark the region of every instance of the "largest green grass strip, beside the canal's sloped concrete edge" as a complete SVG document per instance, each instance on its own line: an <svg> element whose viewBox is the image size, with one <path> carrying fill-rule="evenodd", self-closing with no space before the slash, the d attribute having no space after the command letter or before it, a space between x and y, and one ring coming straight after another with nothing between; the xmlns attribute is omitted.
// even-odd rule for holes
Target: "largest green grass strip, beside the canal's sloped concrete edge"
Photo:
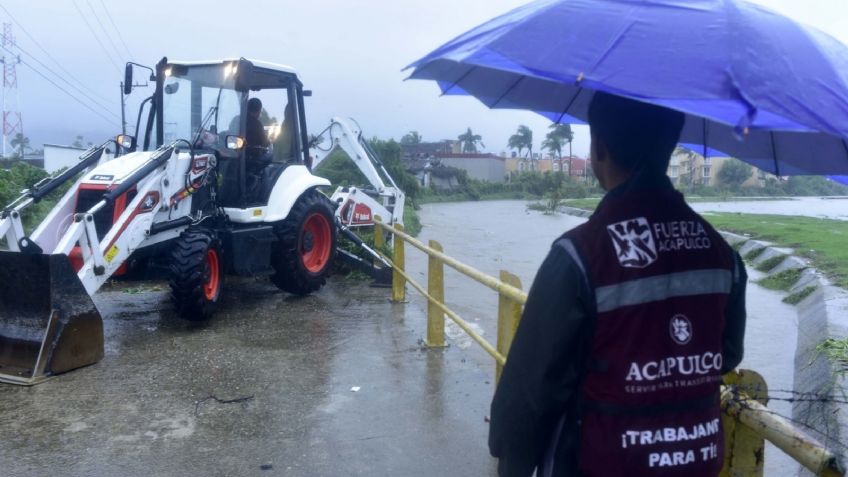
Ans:
<svg viewBox="0 0 848 477"><path fill-rule="evenodd" d="M786 215L705 215L714 227L795 249L835 284L848 288L848 221Z"/></svg>

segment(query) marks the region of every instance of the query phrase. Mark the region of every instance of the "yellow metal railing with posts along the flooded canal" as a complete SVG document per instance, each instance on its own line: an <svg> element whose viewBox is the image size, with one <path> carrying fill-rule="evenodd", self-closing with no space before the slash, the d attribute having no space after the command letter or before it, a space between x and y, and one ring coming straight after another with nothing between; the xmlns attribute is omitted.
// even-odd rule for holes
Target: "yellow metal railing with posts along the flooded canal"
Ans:
<svg viewBox="0 0 848 477"><path fill-rule="evenodd" d="M521 289L519 278L507 271L500 272L500 280L470 267L444 253L442 246L430 240L429 246L404 232L403 226L390 226L375 217L375 245L383 246L383 233L394 235L392 257L383 257L392 265L392 300L406 300L406 284L415 288L427 299L427 337L430 347L445 346L444 317L450 318L468 336L476 341L495 360L495 379L501 370L518 329L527 294ZM415 282L406 272L405 243L428 255L427 289ZM444 266L481 283L498 293L498 340L493 346L475 332L468 322L445 305ZM769 411L768 388L763 378L749 370L733 371L724 376L721 389L722 423L725 434L725 462L721 476L762 476L765 440L768 440L798 463L825 477L844 476L845 469L836 455L789 420Z"/></svg>

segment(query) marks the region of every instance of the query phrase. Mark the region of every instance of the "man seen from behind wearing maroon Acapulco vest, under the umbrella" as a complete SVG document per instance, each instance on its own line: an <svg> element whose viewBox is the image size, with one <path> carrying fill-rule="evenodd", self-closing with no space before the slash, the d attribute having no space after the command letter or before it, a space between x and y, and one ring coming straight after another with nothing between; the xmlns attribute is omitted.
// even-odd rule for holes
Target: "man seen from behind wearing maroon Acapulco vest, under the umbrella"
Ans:
<svg viewBox="0 0 848 477"><path fill-rule="evenodd" d="M492 401L500 475L718 475L747 275L665 174L683 122L595 93L591 163L608 192L533 282Z"/></svg>

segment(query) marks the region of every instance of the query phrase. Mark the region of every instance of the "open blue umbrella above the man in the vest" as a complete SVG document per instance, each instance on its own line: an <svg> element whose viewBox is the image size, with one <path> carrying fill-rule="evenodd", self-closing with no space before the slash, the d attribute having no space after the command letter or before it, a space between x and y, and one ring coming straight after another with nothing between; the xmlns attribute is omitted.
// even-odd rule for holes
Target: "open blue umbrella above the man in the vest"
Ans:
<svg viewBox="0 0 848 477"><path fill-rule="evenodd" d="M705 155L848 174L848 47L741 0L541 0L407 68L555 122L585 121L594 91L627 96L686 113L681 142Z"/></svg>

